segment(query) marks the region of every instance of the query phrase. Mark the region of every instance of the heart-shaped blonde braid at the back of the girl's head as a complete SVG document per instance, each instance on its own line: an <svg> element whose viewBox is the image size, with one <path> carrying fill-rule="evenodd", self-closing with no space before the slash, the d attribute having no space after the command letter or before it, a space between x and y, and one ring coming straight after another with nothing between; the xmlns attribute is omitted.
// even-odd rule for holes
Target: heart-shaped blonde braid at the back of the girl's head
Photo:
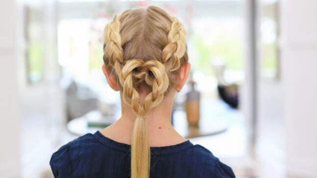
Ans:
<svg viewBox="0 0 317 178"><path fill-rule="evenodd" d="M139 94L133 88L133 77L144 78L144 81L152 86L152 92L147 95L143 105L139 103ZM123 86L124 102L130 104L135 113L141 116L146 116L152 107L157 106L163 100L164 93L168 88L165 67L158 60L144 62L140 59L132 59L127 61L119 76L119 81Z"/></svg>

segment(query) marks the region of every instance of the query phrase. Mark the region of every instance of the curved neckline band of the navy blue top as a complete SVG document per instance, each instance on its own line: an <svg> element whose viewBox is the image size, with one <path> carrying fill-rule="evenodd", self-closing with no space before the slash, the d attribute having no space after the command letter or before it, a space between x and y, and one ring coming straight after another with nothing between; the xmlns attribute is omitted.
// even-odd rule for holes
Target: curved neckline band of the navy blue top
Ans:
<svg viewBox="0 0 317 178"><path fill-rule="evenodd" d="M112 148L114 150L118 150L124 153L130 153L131 145L114 141L106 137L102 133L100 133L99 130L97 130L93 135L98 141L100 141L102 144L106 145L109 148ZM164 146L164 147L151 147L150 148L151 156L179 153L193 146L194 145L189 140L186 140L185 142L182 142L176 145L170 145L170 146Z"/></svg>

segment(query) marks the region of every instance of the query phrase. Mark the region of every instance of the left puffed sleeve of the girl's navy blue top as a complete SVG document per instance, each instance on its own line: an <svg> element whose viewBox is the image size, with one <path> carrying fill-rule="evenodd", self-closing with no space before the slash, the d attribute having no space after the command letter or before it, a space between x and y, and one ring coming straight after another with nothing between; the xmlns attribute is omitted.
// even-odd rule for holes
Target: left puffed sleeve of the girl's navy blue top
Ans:
<svg viewBox="0 0 317 178"><path fill-rule="evenodd" d="M50 166L54 178L68 178L71 177L72 164L70 159L69 145L62 146L57 152L53 153Z"/></svg>

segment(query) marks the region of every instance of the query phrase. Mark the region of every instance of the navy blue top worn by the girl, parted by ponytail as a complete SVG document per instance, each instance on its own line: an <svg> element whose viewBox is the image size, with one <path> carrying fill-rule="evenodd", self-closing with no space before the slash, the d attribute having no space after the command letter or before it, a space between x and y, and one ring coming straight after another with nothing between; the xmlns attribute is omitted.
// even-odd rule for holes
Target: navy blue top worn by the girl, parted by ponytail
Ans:
<svg viewBox="0 0 317 178"><path fill-rule="evenodd" d="M130 145L96 131L87 133L53 153L55 178L130 178ZM232 169L201 145L189 140L151 147L150 178L235 178Z"/></svg>

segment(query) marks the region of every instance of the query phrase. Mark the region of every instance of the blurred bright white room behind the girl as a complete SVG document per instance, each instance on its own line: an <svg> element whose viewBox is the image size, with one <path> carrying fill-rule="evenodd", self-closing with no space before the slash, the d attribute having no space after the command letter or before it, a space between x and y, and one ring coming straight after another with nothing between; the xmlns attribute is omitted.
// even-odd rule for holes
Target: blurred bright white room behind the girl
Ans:
<svg viewBox="0 0 317 178"><path fill-rule="evenodd" d="M103 29L149 5L187 30L174 127L238 178L317 178L316 0L1 0L0 177L52 178L53 152L120 117Z"/></svg>

